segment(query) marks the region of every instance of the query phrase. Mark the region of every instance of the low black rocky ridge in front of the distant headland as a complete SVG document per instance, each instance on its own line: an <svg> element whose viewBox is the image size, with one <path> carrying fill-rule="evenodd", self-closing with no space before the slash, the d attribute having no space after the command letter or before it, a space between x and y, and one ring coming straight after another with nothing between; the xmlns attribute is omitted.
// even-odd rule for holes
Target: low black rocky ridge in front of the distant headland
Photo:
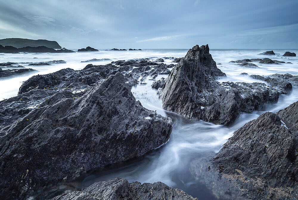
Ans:
<svg viewBox="0 0 298 200"><path fill-rule="evenodd" d="M16 48L13 46L5 46L0 45L0 53L18 53L18 52L30 52L30 53L73 53L74 51L68 49L58 49L55 50L53 48L49 48L46 46L39 47L21 47Z"/></svg>

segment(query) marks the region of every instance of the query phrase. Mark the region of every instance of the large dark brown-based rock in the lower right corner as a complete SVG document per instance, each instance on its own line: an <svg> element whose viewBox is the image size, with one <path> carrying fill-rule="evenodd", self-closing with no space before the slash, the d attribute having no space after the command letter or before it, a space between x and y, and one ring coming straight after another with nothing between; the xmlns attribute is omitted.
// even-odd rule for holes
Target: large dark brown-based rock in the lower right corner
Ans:
<svg viewBox="0 0 298 200"><path fill-rule="evenodd" d="M297 199L298 102L235 131L212 159L221 177L249 199Z"/></svg>

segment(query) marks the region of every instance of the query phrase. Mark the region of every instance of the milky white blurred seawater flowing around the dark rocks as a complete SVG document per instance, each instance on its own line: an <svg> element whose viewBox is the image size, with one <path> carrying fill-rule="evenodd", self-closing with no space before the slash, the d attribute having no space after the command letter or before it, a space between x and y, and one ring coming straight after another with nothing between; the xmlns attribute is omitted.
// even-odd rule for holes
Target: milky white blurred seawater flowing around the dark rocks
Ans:
<svg viewBox="0 0 298 200"><path fill-rule="evenodd" d="M82 52L82 53L21 53L21 54L5 54L0 55L0 62L17 62L24 67L38 70L37 73L16 76L13 78L0 79L0 100L16 96L18 88L22 81L26 81L33 75L52 73L63 68L72 68L80 70L87 64L108 64L111 61L94 61L94 62L80 62L89 59L111 59L127 60L136 58L151 58L155 60L162 57L183 57L188 49L146 49L143 51L105 51L99 52ZM270 49L271 50L271 49ZM283 57L286 51L298 53L297 49L273 49L279 55L264 56L257 55L266 50L249 50L249 49L211 49L213 59L217 66L224 73L226 77L219 79L219 81L241 81L241 82L260 82L258 80L250 79L248 76L241 76L240 73L246 72L249 75L270 75L274 73L290 73L298 75L298 57ZM33 59L36 57L35 59ZM237 64L229 63L232 60L251 59L251 58L265 58L272 60L279 60L289 63L283 64L257 64L260 68L246 68L240 67ZM28 66L21 62L40 62L64 60L66 64L52 64L44 66ZM165 59L166 64L171 64L172 60ZM4 68L3 68L4 69ZM166 78L167 75L159 75L159 78ZM262 110L254 111L253 113L242 113L235 123L230 127L222 125L215 125L204 121L193 121L185 119L184 117L167 112L162 109L162 103L156 94L157 90L151 88L152 81L145 80L147 85L137 85L132 88L136 100L139 100L142 105L150 110L156 110L157 113L163 116L170 116L173 119L173 131L169 141L162 147L151 151L139 159L125 162L119 166L115 166L108 170L98 171L83 177L79 181L69 183L65 187L60 186L62 193L66 188L79 189L87 187L94 182L104 181L116 177L126 178L129 181L139 182L156 182L162 181L171 187L179 188L197 197L198 199L216 199L201 181L195 180L190 173L190 162L193 159L204 158L210 153L218 152L222 145L230 138L234 131L243 126L246 122L256 119L260 114L266 111L277 112L298 101L298 88L293 87L293 91L288 95L281 95L280 99L268 104Z"/></svg>

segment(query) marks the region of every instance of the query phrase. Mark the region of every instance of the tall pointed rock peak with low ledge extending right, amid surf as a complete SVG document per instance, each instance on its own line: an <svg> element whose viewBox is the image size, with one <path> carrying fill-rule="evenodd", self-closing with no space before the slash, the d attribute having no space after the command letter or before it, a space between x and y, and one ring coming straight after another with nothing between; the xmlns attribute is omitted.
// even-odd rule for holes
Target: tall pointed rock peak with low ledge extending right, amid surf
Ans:
<svg viewBox="0 0 298 200"><path fill-rule="evenodd" d="M188 118L230 125L240 112L260 109L287 93L262 83L218 83L218 76L225 74L216 67L208 45L194 46L166 79L160 94L163 108Z"/></svg>

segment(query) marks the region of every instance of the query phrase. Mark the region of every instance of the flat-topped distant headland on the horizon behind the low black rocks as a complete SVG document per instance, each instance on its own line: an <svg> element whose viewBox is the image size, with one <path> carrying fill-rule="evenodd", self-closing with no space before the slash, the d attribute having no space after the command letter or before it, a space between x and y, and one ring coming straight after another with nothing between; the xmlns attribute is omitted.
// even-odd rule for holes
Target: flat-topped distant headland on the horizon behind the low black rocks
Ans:
<svg viewBox="0 0 298 200"><path fill-rule="evenodd" d="M2 46L13 46L16 48L22 47L39 47L45 46L53 49L61 49L61 46L56 41L49 40L31 40L31 39L22 39L22 38L6 38L1 39L0 44Z"/></svg>

